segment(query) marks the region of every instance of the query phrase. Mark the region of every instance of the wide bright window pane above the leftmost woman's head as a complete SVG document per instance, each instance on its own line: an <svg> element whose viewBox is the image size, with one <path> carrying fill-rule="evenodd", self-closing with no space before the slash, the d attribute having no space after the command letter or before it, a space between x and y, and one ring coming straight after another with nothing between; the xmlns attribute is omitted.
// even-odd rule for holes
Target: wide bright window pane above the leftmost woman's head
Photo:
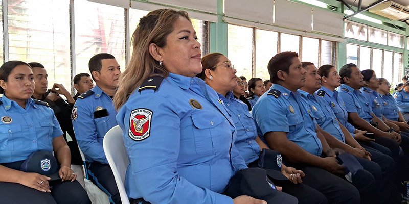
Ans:
<svg viewBox="0 0 409 204"><path fill-rule="evenodd" d="M41 4L37 0L8 1L10 60L44 65L49 75L49 88L53 83L60 83L71 90L69 3L60 0L43 0Z"/></svg>

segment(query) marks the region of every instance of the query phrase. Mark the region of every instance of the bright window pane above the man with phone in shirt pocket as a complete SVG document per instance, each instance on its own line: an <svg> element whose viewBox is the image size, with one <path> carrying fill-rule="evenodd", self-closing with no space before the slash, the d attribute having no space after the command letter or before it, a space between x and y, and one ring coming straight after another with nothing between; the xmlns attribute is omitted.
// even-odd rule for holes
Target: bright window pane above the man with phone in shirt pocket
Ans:
<svg viewBox="0 0 409 204"><path fill-rule="evenodd" d="M98 53L112 54L125 68L124 8L85 0L74 6L76 73L89 73L89 59Z"/></svg>

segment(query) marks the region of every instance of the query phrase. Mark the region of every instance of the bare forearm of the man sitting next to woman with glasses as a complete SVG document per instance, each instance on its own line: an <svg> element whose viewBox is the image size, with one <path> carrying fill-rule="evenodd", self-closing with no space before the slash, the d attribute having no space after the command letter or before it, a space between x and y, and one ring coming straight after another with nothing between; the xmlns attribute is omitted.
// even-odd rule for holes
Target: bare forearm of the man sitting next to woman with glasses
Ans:
<svg viewBox="0 0 409 204"><path fill-rule="evenodd" d="M290 162L321 166L322 158L312 155L287 139L285 132L269 132L264 135L271 149L281 152Z"/></svg>

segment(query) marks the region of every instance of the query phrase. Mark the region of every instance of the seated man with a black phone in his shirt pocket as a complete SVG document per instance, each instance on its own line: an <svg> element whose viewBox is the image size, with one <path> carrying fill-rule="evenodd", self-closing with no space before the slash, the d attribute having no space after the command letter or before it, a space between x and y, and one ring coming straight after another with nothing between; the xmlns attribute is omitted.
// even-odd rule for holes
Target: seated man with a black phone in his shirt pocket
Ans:
<svg viewBox="0 0 409 204"><path fill-rule="evenodd" d="M112 97L117 90L121 67L115 57L107 53L92 57L88 66L97 85L78 96L71 116L74 131L85 155L88 177L108 194L111 202L118 204L121 198L102 141L106 132L118 124Z"/></svg>

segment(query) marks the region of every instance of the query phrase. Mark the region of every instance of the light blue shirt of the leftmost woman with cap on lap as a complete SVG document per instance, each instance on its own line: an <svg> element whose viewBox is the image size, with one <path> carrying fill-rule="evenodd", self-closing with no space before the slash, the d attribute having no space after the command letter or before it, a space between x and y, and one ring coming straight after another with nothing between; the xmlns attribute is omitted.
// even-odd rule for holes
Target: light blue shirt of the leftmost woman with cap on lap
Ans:
<svg viewBox="0 0 409 204"><path fill-rule="evenodd" d="M26 160L38 150L52 152L53 139L62 135L54 111L32 98L24 109L3 95L0 117L0 163Z"/></svg>

